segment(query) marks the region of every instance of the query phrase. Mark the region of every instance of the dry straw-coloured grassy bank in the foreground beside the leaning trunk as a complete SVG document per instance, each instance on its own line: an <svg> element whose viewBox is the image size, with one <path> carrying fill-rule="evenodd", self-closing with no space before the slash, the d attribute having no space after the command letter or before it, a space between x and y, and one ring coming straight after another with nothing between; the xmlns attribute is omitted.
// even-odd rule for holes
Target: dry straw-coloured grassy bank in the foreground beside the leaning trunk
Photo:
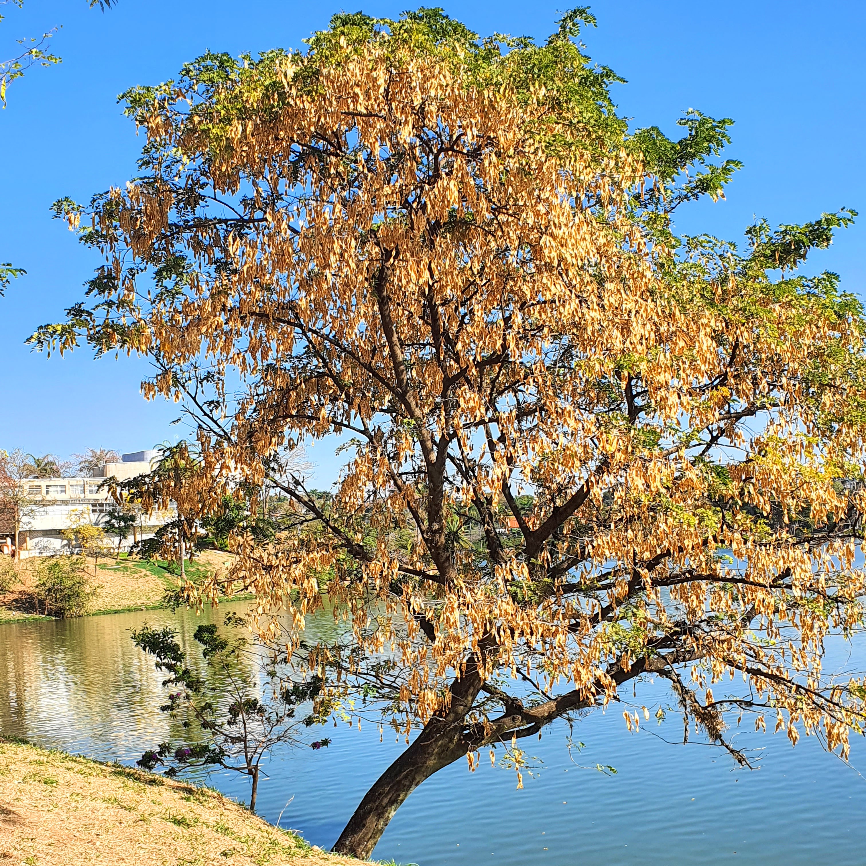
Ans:
<svg viewBox="0 0 866 866"><path fill-rule="evenodd" d="M3 739L0 862L360 866L209 788Z"/></svg>

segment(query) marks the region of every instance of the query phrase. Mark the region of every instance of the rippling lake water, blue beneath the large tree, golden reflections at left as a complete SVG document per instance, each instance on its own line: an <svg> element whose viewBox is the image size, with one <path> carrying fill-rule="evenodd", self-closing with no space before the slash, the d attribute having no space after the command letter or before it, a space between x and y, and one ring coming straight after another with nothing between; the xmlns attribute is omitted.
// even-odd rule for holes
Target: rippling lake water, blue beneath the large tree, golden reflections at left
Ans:
<svg viewBox="0 0 866 866"><path fill-rule="evenodd" d="M0 733L130 764L165 739L163 676L129 637L145 619L173 625L184 640L202 621L189 611L148 611L0 625ZM866 652L857 655L866 661ZM637 701L666 694L647 683ZM792 749L783 734L740 734L739 746L763 749L750 772L717 749L682 746L676 714L638 734L628 733L620 709L591 714L575 726L573 739L585 746L571 755L567 733L553 727L527 746L543 764L533 778L524 774L522 791L514 772L491 768L483 754L475 773L462 761L437 773L397 811L374 856L420 866L866 863L866 779L813 738ZM282 811L281 826L329 847L404 745L387 734L380 743L374 727L322 734L333 738L328 749L268 763L259 812L275 823ZM862 740L851 756L866 776ZM215 774L210 784L249 797L240 777Z"/></svg>

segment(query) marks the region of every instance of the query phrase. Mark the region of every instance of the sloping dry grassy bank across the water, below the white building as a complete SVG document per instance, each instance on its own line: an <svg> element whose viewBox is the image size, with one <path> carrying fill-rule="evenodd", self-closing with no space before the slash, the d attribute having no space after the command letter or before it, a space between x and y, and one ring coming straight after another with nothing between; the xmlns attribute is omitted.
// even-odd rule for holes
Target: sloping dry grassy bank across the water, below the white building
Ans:
<svg viewBox="0 0 866 866"><path fill-rule="evenodd" d="M203 551L187 565L187 575L194 580L204 578L209 572L227 568L231 559L230 553ZM10 591L0 592L0 623L45 618L36 613L32 600L38 561L36 557L24 559L17 583ZM148 559L103 557L98 563L87 559L87 574L99 586L88 611L91 614L152 610L161 607L165 592L177 586L170 564Z"/></svg>

